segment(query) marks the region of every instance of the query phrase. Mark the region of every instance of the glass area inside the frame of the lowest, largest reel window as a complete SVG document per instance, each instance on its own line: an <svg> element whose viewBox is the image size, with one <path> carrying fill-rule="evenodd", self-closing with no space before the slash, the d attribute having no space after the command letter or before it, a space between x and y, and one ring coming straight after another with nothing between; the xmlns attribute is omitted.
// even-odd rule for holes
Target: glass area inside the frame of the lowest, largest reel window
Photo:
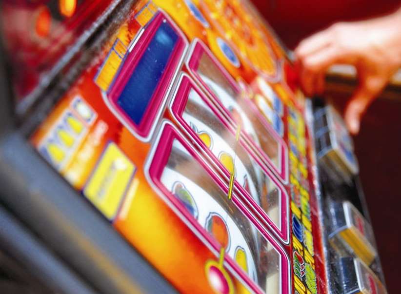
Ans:
<svg viewBox="0 0 401 294"><path fill-rule="evenodd" d="M253 281L279 293L280 255L177 139L160 181Z"/></svg>

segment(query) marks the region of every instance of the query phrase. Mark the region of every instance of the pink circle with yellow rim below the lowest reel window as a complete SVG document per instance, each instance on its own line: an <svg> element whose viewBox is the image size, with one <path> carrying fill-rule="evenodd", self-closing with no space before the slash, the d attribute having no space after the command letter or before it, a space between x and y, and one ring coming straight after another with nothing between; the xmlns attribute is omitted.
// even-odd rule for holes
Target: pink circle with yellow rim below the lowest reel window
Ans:
<svg viewBox="0 0 401 294"><path fill-rule="evenodd" d="M227 271L215 260L208 260L205 273L210 286L217 294L233 294L234 284Z"/></svg>

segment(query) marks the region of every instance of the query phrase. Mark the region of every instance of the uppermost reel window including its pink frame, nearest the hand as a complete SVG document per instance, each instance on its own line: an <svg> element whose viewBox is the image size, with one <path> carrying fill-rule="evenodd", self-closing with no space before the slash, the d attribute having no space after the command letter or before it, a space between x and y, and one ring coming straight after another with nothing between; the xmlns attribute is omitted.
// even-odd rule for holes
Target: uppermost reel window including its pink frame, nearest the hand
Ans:
<svg viewBox="0 0 401 294"><path fill-rule="evenodd" d="M241 124L245 139L261 156L263 164L286 184L288 151L285 142L256 106L248 98L242 97L235 79L199 39L192 42L186 65L230 122Z"/></svg>

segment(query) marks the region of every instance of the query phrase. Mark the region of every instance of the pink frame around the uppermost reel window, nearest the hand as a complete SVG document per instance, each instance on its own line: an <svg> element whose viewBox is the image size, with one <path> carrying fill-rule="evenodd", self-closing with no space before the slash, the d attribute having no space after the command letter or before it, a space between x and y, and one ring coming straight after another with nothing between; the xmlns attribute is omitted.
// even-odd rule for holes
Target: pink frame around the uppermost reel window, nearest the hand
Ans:
<svg viewBox="0 0 401 294"><path fill-rule="evenodd" d="M206 85L206 83L202 80L200 75L198 74L198 68L199 68L199 60L202 54L206 54L214 63L215 65L219 68L221 71L221 74L227 79L227 81L231 84L231 86L235 89L235 91L238 94L241 94L241 88L235 81L233 77L225 70L225 68L221 65L221 63L216 59L216 57L213 55L213 53L206 47L206 45L203 44L202 41L200 40L195 40L193 43L193 50L192 54L188 57L188 68L190 73L200 82L200 84L208 91L210 96L213 98L214 103L216 103L224 112L224 114L227 116L227 118L230 120L232 124L235 125L235 119L231 115L231 113L222 105L220 99L216 97L215 93L209 89L209 87ZM252 105L247 102L249 105ZM253 105L252 105L253 106ZM270 133L272 137L276 139L278 144L280 145L280 166L281 168L278 169L272 160L267 156L267 154L259 147L258 145L255 144L254 140L246 133L242 132L242 134L246 137L247 141L249 144L256 150L256 152L263 157L264 161L263 164L266 164L279 178L284 183L288 182L288 157L287 152L286 152L286 147L285 143L282 140L282 138L276 133L276 131L270 126L270 124L266 121L266 118L261 116L260 112L255 108L251 107L252 111L258 116L259 120L261 120L262 125L267 129L267 131Z"/></svg>

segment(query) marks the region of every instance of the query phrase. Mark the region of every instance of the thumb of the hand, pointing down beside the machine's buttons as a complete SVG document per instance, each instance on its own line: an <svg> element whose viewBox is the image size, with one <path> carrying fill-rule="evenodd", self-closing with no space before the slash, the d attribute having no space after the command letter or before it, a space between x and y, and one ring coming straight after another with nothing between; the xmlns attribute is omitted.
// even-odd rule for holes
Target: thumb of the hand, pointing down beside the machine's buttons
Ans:
<svg viewBox="0 0 401 294"><path fill-rule="evenodd" d="M351 134L359 133L363 114L385 85L386 80L383 78L366 78L361 81L345 108L345 123Z"/></svg>

